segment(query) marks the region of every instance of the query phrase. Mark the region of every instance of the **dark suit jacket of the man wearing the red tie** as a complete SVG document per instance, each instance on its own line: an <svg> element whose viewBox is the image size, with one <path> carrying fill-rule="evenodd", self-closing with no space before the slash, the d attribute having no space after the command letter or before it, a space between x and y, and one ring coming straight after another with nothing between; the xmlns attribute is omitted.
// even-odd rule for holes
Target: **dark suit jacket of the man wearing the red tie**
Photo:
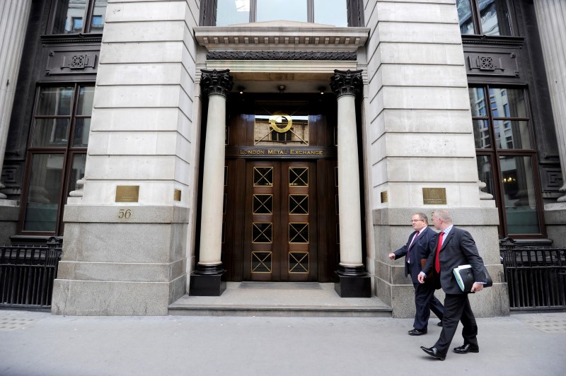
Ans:
<svg viewBox="0 0 566 376"><path fill-rule="evenodd" d="M437 257L437 246L439 235L434 238L434 245L427 264L424 265L422 271L429 274L434 269L434 259ZM475 246L472 235L466 230L453 227L440 249L439 254L440 262L440 286L447 294L463 294L463 291L458 287L456 277L454 276L453 269L460 265L470 264L472 266L473 275L476 282L485 281L485 274L483 273L483 259L480 257L478 247ZM433 278L437 278L436 272Z"/></svg>

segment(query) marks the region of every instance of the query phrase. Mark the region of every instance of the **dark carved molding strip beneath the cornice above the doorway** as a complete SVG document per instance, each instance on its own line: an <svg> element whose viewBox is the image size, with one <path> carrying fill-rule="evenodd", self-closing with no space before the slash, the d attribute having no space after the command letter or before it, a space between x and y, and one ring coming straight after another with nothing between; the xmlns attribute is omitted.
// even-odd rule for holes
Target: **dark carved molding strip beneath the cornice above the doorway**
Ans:
<svg viewBox="0 0 566 376"><path fill-rule="evenodd" d="M212 51L207 60L325 60L355 61L353 51Z"/></svg>

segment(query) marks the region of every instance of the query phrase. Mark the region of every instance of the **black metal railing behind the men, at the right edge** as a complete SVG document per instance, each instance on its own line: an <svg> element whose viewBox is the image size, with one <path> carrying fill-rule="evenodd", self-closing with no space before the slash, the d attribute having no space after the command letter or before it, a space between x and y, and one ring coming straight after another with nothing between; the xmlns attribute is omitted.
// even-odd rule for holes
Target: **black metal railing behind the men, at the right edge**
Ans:
<svg viewBox="0 0 566 376"><path fill-rule="evenodd" d="M566 309L566 249L508 241L500 252L511 310Z"/></svg>

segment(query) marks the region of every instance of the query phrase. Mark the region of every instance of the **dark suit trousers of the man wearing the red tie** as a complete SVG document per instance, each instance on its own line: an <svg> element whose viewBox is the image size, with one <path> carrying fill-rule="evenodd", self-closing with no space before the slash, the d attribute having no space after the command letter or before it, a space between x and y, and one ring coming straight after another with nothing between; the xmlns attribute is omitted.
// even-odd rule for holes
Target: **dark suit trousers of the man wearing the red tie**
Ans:
<svg viewBox="0 0 566 376"><path fill-rule="evenodd" d="M444 319L442 319L442 331L437 343L434 344L439 353L446 356L450 343L458 329L458 322L463 324L462 336L464 344L478 346L478 325L468 300L468 294L446 294L444 298Z"/></svg>

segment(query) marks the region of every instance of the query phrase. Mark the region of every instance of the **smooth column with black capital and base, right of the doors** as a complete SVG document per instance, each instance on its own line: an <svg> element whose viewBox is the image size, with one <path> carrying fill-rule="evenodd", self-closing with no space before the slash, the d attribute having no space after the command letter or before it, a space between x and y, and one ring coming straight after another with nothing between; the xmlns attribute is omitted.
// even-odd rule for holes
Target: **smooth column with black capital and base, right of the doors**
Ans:
<svg viewBox="0 0 566 376"><path fill-rule="evenodd" d="M362 71L334 71L333 91L338 105L338 210L340 212L340 282L335 290L342 298L370 298L371 280L362 262L362 213L359 198L359 160L356 95Z"/></svg>

